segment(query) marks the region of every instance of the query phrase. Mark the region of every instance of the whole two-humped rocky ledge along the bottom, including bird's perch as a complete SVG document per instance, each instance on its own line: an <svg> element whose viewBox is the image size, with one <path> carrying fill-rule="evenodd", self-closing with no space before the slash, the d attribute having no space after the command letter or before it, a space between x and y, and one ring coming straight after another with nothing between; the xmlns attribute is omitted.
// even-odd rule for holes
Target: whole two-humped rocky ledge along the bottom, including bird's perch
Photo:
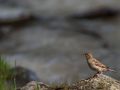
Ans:
<svg viewBox="0 0 120 90"><path fill-rule="evenodd" d="M71 86L48 86L42 82L31 81L19 90L120 90L120 81L106 75L98 75L81 80Z"/></svg>

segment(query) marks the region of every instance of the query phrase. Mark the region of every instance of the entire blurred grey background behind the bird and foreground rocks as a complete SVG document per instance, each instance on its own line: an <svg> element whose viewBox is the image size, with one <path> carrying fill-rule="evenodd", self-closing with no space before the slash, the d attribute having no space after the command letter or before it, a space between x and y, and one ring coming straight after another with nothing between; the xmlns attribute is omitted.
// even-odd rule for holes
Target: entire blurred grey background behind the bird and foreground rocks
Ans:
<svg viewBox="0 0 120 90"><path fill-rule="evenodd" d="M0 1L0 54L13 67L16 62L46 83L72 83L94 73L82 55L91 51L120 80L119 1L5 1Z"/></svg>

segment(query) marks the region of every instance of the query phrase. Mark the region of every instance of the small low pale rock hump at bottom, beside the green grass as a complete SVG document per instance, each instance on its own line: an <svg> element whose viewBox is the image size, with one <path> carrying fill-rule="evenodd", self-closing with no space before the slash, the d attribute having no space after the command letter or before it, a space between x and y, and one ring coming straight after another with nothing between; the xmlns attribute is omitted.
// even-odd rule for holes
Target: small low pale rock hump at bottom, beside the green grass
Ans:
<svg viewBox="0 0 120 90"><path fill-rule="evenodd" d="M42 82L31 81L18 90L49 90L49 86Z"/></svg>

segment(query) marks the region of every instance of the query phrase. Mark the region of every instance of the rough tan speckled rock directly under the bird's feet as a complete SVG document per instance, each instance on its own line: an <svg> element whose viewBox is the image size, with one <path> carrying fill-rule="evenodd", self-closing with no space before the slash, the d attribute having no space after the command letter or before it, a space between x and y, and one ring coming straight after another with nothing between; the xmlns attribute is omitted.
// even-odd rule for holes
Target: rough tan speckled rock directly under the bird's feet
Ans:
<svg viewBox="0 0 120 90"><path fill-rule="evenodd" d="M70 90L120 90L120 81L99 75L74 84Z"/></svg>

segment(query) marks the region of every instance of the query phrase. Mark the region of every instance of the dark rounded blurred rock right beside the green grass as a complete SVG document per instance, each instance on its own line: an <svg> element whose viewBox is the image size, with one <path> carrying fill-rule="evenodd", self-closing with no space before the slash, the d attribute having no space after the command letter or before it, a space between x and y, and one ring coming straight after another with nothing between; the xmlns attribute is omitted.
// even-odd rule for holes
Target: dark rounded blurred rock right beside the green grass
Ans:
<svg viewBox="0 0 120 90"><path fill-rule="evenodd" d="M33 80L39 81L39 78L32 70L29 70L29 69L26 69L20 66L12 68L11 72L13 72L12 80L14 80L15 78L16 85L18 87L23 86L26 83L33 81Z"/></svg>

